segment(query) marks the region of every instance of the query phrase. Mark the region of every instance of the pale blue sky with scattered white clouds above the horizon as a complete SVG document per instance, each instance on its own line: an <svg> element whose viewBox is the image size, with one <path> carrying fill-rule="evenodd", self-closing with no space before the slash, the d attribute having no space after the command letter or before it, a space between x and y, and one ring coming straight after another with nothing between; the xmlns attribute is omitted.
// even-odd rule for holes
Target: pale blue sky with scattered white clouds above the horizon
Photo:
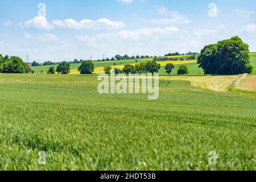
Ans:
<svg viewBox="0 0 256 182"><path fill-rule="evenodd" d="M236 35L256 51L255 0L0 0L0 53L22 59L199 52Z"/></svg>

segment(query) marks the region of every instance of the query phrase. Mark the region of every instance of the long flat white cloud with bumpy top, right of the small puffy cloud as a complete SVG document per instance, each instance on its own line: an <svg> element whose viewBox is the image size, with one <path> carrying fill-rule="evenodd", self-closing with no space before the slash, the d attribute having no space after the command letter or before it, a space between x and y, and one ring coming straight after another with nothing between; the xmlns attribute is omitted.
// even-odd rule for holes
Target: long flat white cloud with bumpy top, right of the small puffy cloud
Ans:
<svg viewBox="0 0 256 182"><path fill-rule="evenodd" d="M90 19L83 19L79 22L76 20L69 18L64 20L53 20L52 22L55 26L61 28L74 28L76 30L79 29L101 29L101 28L122 28L125 27L125 23L123 22L114 22L109 20L108 18L101 18L98 20L90 20Z"/></svg>

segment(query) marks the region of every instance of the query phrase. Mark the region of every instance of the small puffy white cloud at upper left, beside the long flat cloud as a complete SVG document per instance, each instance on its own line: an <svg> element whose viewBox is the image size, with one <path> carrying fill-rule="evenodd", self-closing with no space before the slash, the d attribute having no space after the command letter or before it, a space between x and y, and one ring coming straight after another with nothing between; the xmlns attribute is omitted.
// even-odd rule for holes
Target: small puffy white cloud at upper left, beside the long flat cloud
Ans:
<svg viewBox="0 0 256 182"><path fill-rule="evenodd" d="M36 29L52 30L54 27L44 16L35 16L23 23L24 27L34 27Z"/></svg>

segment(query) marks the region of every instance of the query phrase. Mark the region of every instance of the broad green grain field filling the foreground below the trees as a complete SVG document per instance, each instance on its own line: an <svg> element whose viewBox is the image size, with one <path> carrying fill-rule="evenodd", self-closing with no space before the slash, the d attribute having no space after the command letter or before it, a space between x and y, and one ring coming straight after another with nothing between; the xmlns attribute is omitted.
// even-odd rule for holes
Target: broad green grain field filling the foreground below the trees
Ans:
<svg viewBox="0 0 256 182"><path fill-rule="evenodd" d="M160 80L159 100L149 101L98 94L95 76L0 74L0 82L2 170L256 170L255 94Z"/></svg>

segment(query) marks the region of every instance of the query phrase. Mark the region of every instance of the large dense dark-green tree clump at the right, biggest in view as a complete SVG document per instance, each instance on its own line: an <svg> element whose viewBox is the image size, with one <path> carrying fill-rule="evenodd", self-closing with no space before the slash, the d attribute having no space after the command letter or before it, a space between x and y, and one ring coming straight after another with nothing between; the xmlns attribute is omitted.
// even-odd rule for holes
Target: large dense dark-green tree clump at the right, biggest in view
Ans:
<svg viewBox="0 0 256 182"><path fill-rule="evenodd" d="M238 75L253 71L249 46L238 36L205 46L197 63L205 74Z"/></svg>

